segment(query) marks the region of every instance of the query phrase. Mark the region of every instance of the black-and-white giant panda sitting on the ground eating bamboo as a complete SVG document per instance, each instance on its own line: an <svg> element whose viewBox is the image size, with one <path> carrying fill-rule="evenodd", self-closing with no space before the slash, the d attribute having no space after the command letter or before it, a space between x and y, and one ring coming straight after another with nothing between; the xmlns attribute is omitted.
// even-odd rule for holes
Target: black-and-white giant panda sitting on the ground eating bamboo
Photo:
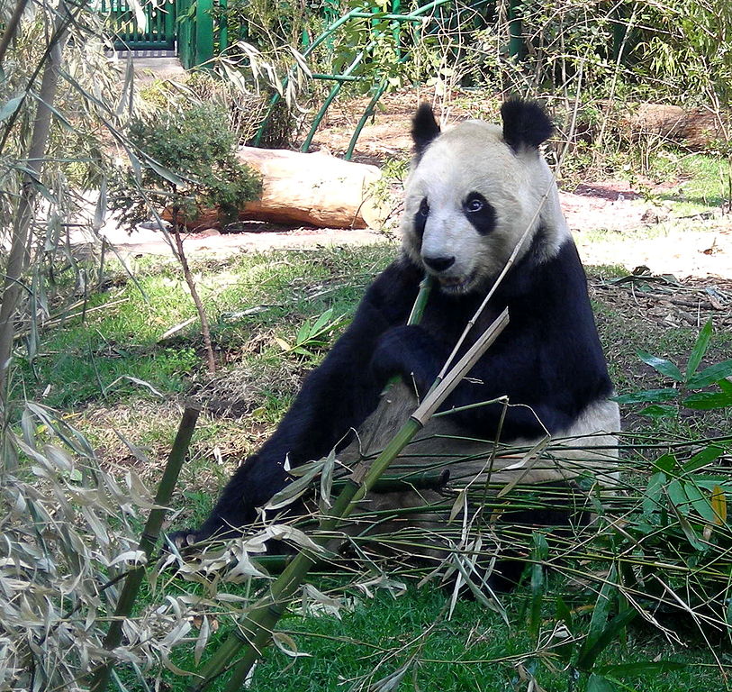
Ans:
<svg viewBox="0 0 732 692"><path fill-rule="evenodd" d="M428 391L521 239L465 348L505 307L510 323L442 410L501 396L509 406L434 418L398 461L427 469L454 460L458 484L485 475L489 459L493 484L566 481L588 469L612 482L619 409L583 267L539 151L553 125L540 105L518 98L506 101L501 115L501 126L467 121L441 132L431 107L420 106L399 256L368 287L276 432L234 472L203 525L174 534L179 543L224 537L254 522L257 508L291 479L287 464L318 460L334 447L349 464L383 447ZM435 288L420 324L408 326L425 272ZM386 414L377 415L394 376L399 384L380 406ZM502 443L530 449L548 435L551 451L518 461L493 454L500 421ZM406 495L389 501L417 504Z"/></svg>

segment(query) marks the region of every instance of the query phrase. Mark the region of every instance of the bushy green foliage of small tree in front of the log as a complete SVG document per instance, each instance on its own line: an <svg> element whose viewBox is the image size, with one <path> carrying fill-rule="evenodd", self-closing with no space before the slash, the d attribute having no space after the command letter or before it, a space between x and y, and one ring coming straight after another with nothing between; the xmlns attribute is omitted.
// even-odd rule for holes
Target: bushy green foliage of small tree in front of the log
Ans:
<svg viewBox="0 0 732 692"><path fill-rule="evenodd" d="M111 207L133 226L149 219L149 205L169 207L174 221L193 219L215 207L221 221L236 218L245 202L261 192L256 174L236 159L236 141L220 107L194 105L135 118L128 137L141 167L121 171Z"/></svg>

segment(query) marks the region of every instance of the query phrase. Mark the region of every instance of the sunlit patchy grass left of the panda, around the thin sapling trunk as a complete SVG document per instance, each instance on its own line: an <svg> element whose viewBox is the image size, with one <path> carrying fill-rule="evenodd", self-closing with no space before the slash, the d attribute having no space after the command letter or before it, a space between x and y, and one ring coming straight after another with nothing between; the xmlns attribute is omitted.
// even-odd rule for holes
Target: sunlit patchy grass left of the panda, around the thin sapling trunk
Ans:
<svg viewBox="0 0 732 692"><path fill-rule="evenodd" d="M382 247L310 257L243 255L225 268L203 263L197 268L199 290L221 360L243 359L258 367L278 362L282 354L275 337L294 341L304 319L327 307L335 314L351 314L357 296L388 256ZM146 393L144 385L120 380L124 376L167 394L184 391L191 376L202 371L196 325L162 337L194 318L193 302L174 264L143 265L136 278L137 284L113 285L93 296L88 307L96 309L86 320L77 317L53 329L41 351L23 364L17 390L64 409ZM105 304L112 306L105 309ZM155 394L147 390L146 396Z"/></svg>

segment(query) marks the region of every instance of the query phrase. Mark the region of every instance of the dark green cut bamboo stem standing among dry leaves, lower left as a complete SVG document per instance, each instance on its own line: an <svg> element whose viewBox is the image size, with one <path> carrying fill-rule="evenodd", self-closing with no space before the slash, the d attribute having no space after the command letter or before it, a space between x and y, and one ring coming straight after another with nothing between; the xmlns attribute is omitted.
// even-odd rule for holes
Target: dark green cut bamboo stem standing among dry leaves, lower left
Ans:
<svg viewBox="0 0 732 692"><path fill-rule="evenodd" d="M138 550L145 553L147 560L149 560L155 544L158 542L160 529L162 528L163 520L167 512L167 505L169 505L170 497L173 495L173 490L176 487L178 475L185 460L185 453L188 451L188 445L191 443L195 422L200 412L200 406L193 404L186 405L185 411L183 412L183 418L178 427L176 440L173 442L173 448L167 457L163 478L160 479L158 485L158 493L155 496L156 506L150 510L148 522L145 524L145 529L140 536L140 543L138 544ZM122 593L117 601L117 607L114 610L114 619L104 637L103 646L106 651L113 651L122 642L122 624L124 624L124 620L130 617L132 613L132 607L140 591L140 585L144 576L144 565L132 569L127 575L124 586L122 587ZM104 692L109 684L113 666L113 660L110 659L101 668L96 669L95 676L92 678L92 683L89 687L90 692Z"/></svg>

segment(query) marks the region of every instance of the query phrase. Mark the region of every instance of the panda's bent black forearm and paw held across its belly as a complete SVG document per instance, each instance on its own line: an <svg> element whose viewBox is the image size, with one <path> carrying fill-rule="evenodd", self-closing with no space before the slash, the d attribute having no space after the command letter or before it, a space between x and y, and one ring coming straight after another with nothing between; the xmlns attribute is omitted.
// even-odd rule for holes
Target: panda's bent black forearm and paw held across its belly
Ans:
<svg viewBox="0 0 732 692"><path fill-rule="evenodd" d="M510 346L509 346L510 344ZM385 333L375 353L375 369L399 374L414 383L421 395L437 377L449 355L446 343L421 327L395 327ZM512 325L495 349L488 351L447 397L440 411L508 396L502 435L536 437L565 429L583 407L611 390L599 343L592 333L554 334ZM483 405L450 414L466 432L492 437L502 417L502 405Z"/></svg>

